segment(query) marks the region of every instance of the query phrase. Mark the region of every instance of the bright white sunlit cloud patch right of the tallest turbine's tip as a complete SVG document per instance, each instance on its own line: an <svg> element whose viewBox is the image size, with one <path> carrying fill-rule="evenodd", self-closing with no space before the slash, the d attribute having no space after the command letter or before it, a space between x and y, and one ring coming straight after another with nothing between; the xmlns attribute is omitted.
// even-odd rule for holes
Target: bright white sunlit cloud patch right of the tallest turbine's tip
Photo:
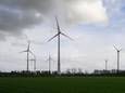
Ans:
<svg viewBox="0 0 125 93"><path fill-rule="evenodd" d="M107 10L101 0L71 0L67 4L67 19L82 23L108 22Z"/></svg>

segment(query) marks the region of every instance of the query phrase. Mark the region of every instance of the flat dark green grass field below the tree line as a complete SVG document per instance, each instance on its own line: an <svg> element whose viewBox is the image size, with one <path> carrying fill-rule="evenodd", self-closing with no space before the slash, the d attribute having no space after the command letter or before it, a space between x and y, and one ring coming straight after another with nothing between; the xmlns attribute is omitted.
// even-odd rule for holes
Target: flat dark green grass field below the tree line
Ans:
<svg viewBox="0 0 125 93"><path fill-rule="evenodd" d="M0 78L0 93L125 93L125 78Z"/></svg>

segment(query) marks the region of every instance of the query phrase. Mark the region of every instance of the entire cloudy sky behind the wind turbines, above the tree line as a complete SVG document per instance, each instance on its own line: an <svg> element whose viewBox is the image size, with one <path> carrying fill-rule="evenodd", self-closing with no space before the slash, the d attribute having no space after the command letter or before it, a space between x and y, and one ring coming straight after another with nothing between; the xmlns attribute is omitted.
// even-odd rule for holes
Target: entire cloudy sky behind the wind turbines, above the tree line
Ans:
<svg viewBox="0 0 125 93"><path fill-rule="evenodd" d="M121 51L121 69L125 69L124 0L0 0L0 70L26 69L27 40L37 56L37 69L48 69L48 55L57 70L57 34L54 16L62 31L61 69L82 68L91 71L116 69L115 44ZM30 55L30 58L33 56ZM33 62L29 62L33 70Z"/></svg>

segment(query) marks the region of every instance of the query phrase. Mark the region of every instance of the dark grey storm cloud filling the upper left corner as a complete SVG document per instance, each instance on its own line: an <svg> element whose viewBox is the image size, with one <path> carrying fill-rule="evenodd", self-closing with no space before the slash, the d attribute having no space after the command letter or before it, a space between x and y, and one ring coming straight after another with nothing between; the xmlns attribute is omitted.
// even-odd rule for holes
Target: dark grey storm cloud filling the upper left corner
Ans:
<svg viewBox="0 0 125 93"><path fill-rule="evenodd" d="M41 23L42 15L50 13L52 1L0 0L0 38L22 35L24 28Z"/></svg>

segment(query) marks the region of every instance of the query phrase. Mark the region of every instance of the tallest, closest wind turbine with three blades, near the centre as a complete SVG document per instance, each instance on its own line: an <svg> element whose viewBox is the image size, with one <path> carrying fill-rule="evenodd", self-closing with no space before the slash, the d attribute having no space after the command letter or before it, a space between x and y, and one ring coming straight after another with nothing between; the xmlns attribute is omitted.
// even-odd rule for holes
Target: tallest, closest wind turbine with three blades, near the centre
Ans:
<svg viewBox="0 0 125 93"><path fill-rule="evenodd" d="M50 38L48 41L51 41L52 39L58 37L58 74L61 74L61 63L60 63L60 40L61 40L60 38L61 38L61 35L71 39L71 40L73 40L73 39L61 31L58 17L55 17L55 22L57 22L58 34L55 36L53 36L52 38Z"/></svg>

